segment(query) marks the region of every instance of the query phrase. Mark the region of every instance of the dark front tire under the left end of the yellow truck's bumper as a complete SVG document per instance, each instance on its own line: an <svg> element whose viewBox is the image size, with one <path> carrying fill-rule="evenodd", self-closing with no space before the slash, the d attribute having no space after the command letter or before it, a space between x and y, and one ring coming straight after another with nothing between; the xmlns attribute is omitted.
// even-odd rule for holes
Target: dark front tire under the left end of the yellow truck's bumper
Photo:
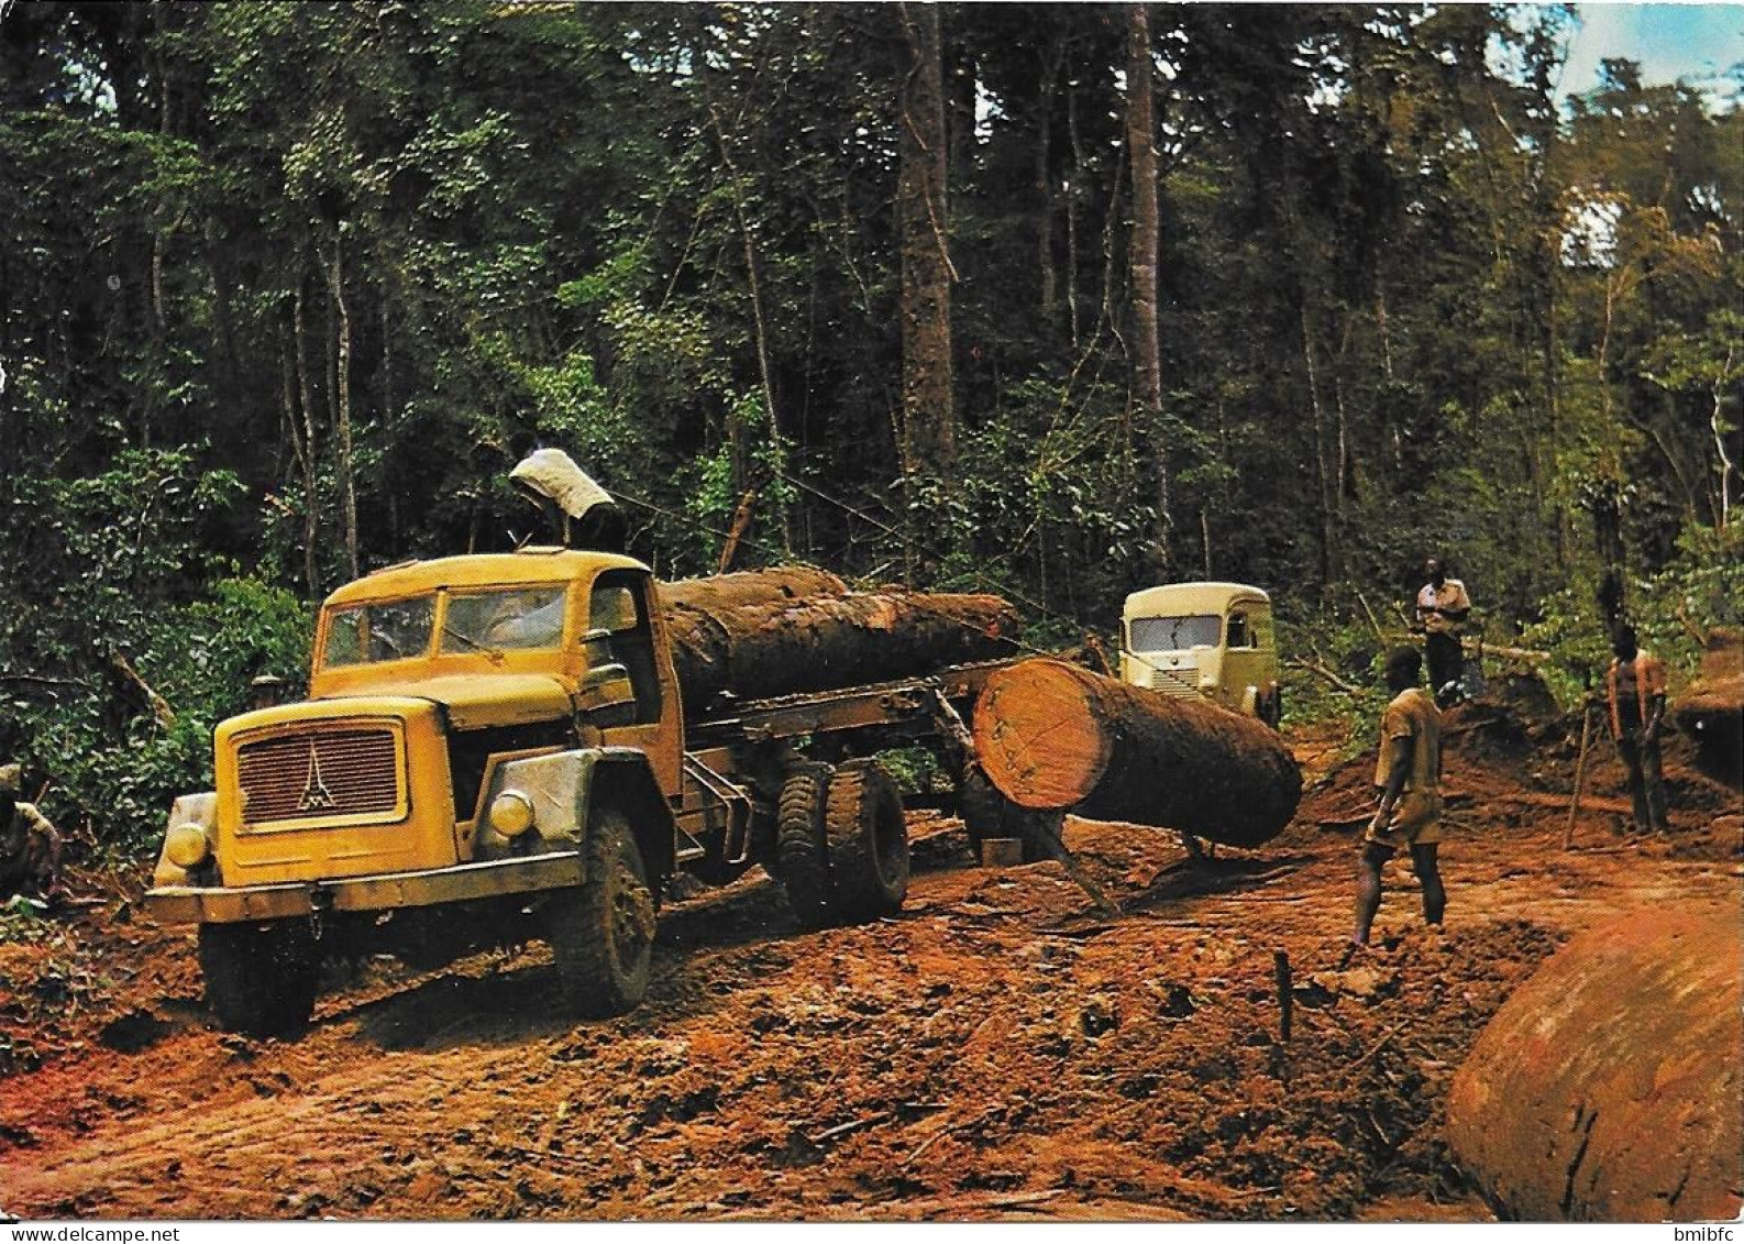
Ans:
<svg viewBox="0 0 1744 1244"><path fill-rule="evenodd" d="M227 1033L296 1036L316 1008L321 956L305 919L201 925L206 1001Z"/></svg>

